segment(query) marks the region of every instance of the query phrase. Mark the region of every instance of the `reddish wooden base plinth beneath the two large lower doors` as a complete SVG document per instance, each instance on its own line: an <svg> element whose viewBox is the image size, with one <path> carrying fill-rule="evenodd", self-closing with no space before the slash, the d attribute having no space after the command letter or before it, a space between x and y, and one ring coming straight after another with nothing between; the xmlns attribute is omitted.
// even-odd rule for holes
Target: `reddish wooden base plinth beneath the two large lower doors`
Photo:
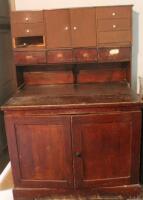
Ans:
<svg viewBox="0 0 143 200"><path fill-rule="evenodd" d="M123 197L137 197L141 193L141 186L139 184L135 185L124 185L124 186L115 186L115 187L102 187L96 188L92 190L55 190L55 189L46 189L46 188L15 188L13 190L14 200L34 200L34 198L41 198L41 197L50 197L52 200L52 195L54 196L53 199L62 199L62 195L73 195L77 197L77 195L81 195L81 197L87 197L91 195L108 195L108 196L123 196ZM64 196L65 198L65 196ZM71 197L70 197L71 199ZM76 198L75 198L76 199ZM82 199L82 198L81 198Z"/></svg>

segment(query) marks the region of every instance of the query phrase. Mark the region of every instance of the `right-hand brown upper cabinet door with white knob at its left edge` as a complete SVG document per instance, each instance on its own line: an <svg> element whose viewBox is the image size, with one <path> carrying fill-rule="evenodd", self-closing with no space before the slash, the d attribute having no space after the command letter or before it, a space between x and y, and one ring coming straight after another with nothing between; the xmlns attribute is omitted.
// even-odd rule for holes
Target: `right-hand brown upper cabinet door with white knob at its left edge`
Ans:
<svg viewBox="0 0 143 200"><path fill-rule="evenodd" d="M73 47L96 46L96 9L71 9Z"/></svg>

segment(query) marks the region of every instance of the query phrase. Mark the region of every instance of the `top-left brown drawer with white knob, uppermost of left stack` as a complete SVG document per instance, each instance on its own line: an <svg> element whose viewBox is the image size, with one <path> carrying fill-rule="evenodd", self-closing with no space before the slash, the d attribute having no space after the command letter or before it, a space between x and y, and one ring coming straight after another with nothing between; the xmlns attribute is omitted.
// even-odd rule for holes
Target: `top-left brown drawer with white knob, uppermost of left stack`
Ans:
<svg viewBox="0 0 143 200"><path fill-rule="evenodd" d="M16 11L11 13L12 23L43 22L43 11Z"/></svg>

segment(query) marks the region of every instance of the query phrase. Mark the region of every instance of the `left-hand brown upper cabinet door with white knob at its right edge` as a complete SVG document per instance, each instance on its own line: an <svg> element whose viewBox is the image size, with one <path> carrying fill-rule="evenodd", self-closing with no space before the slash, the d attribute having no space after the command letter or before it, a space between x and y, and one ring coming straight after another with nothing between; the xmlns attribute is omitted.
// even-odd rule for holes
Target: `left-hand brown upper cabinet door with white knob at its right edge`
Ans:
<svg viewBox="0 0 143 200"><path fill-rule="evenodd" d="M69 10L45 11L47 47L71 47Z"/></svg>

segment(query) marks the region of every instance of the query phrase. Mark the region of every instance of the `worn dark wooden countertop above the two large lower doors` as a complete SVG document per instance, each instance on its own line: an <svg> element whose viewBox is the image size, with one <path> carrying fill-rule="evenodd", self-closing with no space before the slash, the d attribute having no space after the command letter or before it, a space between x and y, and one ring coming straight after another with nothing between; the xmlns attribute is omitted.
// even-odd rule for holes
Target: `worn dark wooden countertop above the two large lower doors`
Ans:
<svg viewBox="0 0 143 200"><path fill-rule="evenodd" d="M2 110L99 104L139 104L139 98L126 83L25 86Z"/></svg>

